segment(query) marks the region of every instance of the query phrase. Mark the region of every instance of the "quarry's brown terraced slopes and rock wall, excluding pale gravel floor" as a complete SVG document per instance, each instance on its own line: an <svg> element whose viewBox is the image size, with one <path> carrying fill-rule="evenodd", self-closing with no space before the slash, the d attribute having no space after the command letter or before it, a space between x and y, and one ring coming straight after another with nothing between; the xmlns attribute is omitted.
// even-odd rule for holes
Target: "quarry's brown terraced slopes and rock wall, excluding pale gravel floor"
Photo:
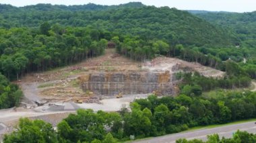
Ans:
<svg viewBox="0 0 256 143"><path fill-rule="evenodd" d="M198 72L205 77L223 77L224 72L160 56L136 62L106 49L106 53L85 62L44 73L27 75L18 84L28 100L98 102L123 95L175 95L179 88L176 73ZM26 101L25 101L26 102Z"/></svg>

